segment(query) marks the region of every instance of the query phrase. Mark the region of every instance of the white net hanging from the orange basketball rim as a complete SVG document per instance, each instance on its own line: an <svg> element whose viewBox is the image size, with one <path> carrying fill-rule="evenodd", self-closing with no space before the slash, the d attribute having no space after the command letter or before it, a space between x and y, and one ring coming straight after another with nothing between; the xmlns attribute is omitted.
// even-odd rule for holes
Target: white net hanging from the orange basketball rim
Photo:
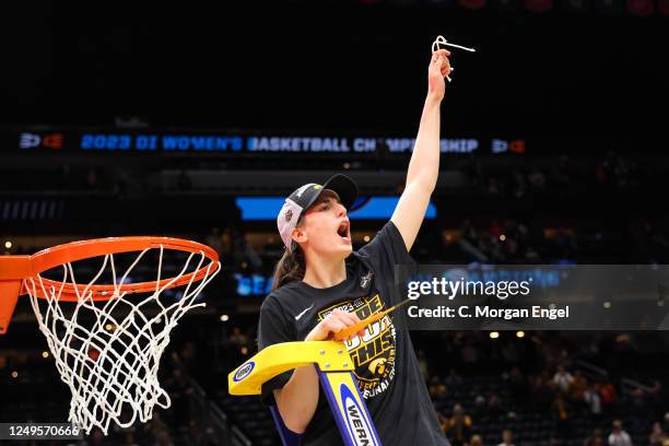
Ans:
<svg viewBox="0 0 669 446"><path fill-rule="evenodd" d="M154 249L160 249L160 282L163 246ZM220 263L211 262L203 253L193 253L174 279L156 286L152 293L120 292L128 274L150 250L141 251L118 280L114 255L106 255L94 279L81 293L78 291L77 302L59 302L62 285L45 289L40 275L25 281L39 329L46 336L60 378L72 391L69 422L86 434L93 426L98 426L106 435L111 421L121 427L132 425L138 418L145 423L152 418L155 404L164 409L171 406L169 396L157 379L161 356L169 343L169 331L190 308L206 305L196 303L196 297L220 271ZM199 270L206 261L210 265L203 279L195 282L196 274L192 274L190 282L178 289L183 290L180 298L161 296L189 268L195 266ZM107 265L111 269L114 293L108 301L94 301L89 287ZM75 284L72 265L62 267L60 282ZM46 298L37 297L38 287ZM70 316L63 314L61 306L68 307Z"/></svg>

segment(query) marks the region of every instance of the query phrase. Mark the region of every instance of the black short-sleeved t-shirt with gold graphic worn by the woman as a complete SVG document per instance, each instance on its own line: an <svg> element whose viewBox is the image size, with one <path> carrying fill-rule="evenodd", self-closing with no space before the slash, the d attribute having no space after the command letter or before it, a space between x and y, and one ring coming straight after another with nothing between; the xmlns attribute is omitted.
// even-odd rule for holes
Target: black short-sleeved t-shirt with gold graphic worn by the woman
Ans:
<svg viewBox="0 0 669 446"><path fill-rule="evenodd" d="M316 289L302 281L273 291L262 303L258 327L260 350L279 342L302 341L330 312L340 308L363 319L400 302L394 286L395 265L412 263L401 234L388 222L366 246L347 259L347 279ZM388 445L445 446L427 388L421 376L404 313L400 309L372 324L365 336L345 342L355 377L379 439ZM274 403L274 389L290 379L286 372L262 386L263 400ZM303 445L341 445L341 436L322 391Z"/></svg>

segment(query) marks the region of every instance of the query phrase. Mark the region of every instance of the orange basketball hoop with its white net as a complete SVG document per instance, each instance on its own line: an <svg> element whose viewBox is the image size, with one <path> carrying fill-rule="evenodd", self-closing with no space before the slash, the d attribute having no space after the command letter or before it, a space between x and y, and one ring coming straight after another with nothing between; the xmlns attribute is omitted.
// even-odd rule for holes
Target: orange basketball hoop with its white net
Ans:
<svg viewBox="0 0 669 446"><path fill-rule="evenodd" d="M178 260L164 263L166 253ZM96 258L102 266L91 268ZM121 272L122 260L129 266ZM153 260L155 280L134 282L130 274ZM164 279L164 270L177 261L177 270ZM75 262L84 265L78 275L90 277L85 284L77 283ZM98 426L106 435L111 421L121 427L138 418L145 423L155 404L171 406L157 379L161 356L178 319L206 305L198 295L220 269L212 248L168 237L101 238L33 256L0 256L0 334L19 295L27 293L60 378L72 391L69 421L86 434Z"/></svg>

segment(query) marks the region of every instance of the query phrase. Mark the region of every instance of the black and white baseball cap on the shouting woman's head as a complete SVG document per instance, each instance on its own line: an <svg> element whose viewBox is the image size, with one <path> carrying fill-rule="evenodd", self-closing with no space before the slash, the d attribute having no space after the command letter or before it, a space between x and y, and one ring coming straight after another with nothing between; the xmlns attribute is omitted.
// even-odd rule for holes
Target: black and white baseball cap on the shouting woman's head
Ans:
<svg viewBox="0 0 669 446"><path fill-rule="evenodd" d="M277 216L279 234L285 247L290 250L292 245L291 235L297 225L297 221L312 204L318 200L324 190L331 190L339 196L344 208L350 209L357 198L357 185L345 175L334 175L322 185L309 183L295 189L283 203Z"/></svg>

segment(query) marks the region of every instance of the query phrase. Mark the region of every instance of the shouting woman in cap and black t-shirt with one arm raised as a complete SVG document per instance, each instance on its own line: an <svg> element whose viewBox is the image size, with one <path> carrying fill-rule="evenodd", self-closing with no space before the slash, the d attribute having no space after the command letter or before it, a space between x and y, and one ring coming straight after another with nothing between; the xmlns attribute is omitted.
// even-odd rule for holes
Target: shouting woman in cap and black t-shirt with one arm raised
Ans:
<svg viewBox="0 0 669 446"><path fill-rule="evenodd" d="M285 254L273 291L260 310L259 349L289 341L320 341L399 303L395 265L411 263L409 250L425 215L439 169L439 106L450 73L447 50L433 54L427 96L407 185L390 221L352 250L347 209L357 187L343 175L308 184L285 200L277 224ZM421 376L404 315L387 315L347 341L360 391L387 445L447 445ZM275 403L284 424L302 434L303 445L337 445L337 431L319 390L314 366L298 367L266 383L266 401Z"/></svg>

